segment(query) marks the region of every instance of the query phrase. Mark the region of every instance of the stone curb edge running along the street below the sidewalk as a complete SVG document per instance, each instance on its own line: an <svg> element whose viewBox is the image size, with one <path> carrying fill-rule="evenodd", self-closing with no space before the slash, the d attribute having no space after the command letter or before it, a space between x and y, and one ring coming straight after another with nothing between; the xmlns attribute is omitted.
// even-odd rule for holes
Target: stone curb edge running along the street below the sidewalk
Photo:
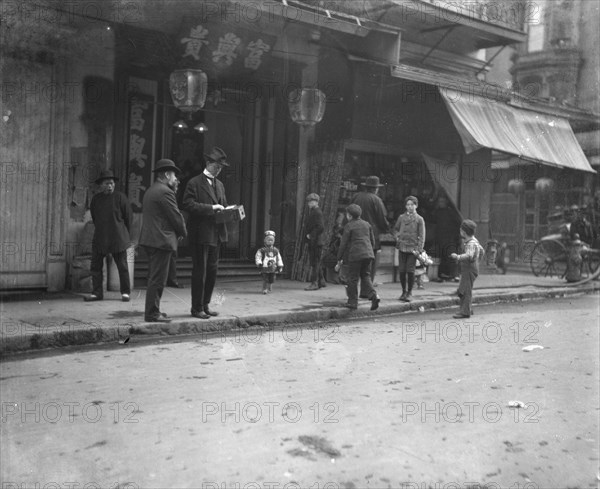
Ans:
<svg viewBox="0 0 600 489"><path fill-rule="evenodd" d="M477 290L477 289L476 289ZM480 289L481 290L481 289ZM518 292L479 293L473 297L474 304L493 304L506 302L522 302L526 300L561 298L571 295L591 294L600 291L600 285L588 283L578 287L556 287L544 290ZM171 323L124 323L94 324L81 327L81 323L65 324L65 330L22 332L21 334L3 334L0 338L0 353L24 353L31 351L62 348L66 346L84 346L93 344L127 344L131 337L165 337L202 335L205 338L220 335L232 335L235 332L249 329L283 328L287 325L310 327L314 323L322 323L340 319L360 319L366 317L388 316L401 313L420 313L457 306L457 297L440 299L415 300L411 303L390 303L371 312L368 307L351 311L343 307L324 306L301 312L273 312L244 317L228 317L210 321L173 321ZM421 309L422 308L422 309Z"/></svg>

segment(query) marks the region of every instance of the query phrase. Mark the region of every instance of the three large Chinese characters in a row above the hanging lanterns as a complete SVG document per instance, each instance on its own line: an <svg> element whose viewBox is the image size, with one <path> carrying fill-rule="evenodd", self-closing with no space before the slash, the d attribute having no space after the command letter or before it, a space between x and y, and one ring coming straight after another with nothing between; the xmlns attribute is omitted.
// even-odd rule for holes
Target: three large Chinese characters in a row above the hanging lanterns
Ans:
<svg viewBox="0 0 600 489"><path fill-rule="evenodd" d="M182 61L207 71L253 72L267 61L275 37L239 26L186 22L179 41Z"/></svg>

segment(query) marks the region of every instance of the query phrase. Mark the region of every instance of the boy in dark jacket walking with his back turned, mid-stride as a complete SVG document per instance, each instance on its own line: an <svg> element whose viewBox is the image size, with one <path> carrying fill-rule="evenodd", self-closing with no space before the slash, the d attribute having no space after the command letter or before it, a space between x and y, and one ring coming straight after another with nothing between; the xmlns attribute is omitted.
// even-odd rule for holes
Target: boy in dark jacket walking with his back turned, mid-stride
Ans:
<svg viewBox="0 0 600 489"><path fill-rule="evenodd" d="M340 248L338 250L338 265L346 260L348 276L346 294L348 302L344 307L356 309L358 307L358 279L360 278L365 294L371 300L371 311L379 307L379 297L371 282L371 262L375 258L373 247L375 237L371 225L360 218L361 208L356 204L346 207L348 224L344 227ZM345 257L345 258L344 258Z"/></svg>

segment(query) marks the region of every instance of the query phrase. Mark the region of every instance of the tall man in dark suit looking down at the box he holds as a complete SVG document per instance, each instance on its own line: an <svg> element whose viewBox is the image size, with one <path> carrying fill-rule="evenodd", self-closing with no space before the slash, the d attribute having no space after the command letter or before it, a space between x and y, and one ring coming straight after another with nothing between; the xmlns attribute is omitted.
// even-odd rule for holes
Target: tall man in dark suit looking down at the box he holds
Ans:
<svg viewBox="0 0 600 489"><path fill-rule="evenodd" d="M209 308L217 281L219 249L227 242L227 226L215 216L227 207L225 187L217 176L227 163L227 155L218 147L205 154L206 168L192 178L183 194L183 208L189 213L189 243L192 255L192 316L209 319L218 313Z"/></svg>

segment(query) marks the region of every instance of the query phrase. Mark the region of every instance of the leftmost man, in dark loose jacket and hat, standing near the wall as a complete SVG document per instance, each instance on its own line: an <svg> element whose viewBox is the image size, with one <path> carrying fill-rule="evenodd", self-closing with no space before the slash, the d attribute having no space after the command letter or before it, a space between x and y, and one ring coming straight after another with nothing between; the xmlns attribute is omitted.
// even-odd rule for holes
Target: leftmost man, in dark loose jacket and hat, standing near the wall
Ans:
<svg viewBox="0 0 600 489"><path fill-rule="evenodd" d="M90 213L94 221L94 237L92 238L92 293L84 297L86 302L101 301L104 296L102 286L102 268L104 258L112 255L121 288L121 300L129 301L131 284L127 268L127 248L129 247L129 230L131 226L131 206L127 196L115 191L118 180L111 170L104 170L96 180L100 192L94 195L90 203Z"/></svg>

